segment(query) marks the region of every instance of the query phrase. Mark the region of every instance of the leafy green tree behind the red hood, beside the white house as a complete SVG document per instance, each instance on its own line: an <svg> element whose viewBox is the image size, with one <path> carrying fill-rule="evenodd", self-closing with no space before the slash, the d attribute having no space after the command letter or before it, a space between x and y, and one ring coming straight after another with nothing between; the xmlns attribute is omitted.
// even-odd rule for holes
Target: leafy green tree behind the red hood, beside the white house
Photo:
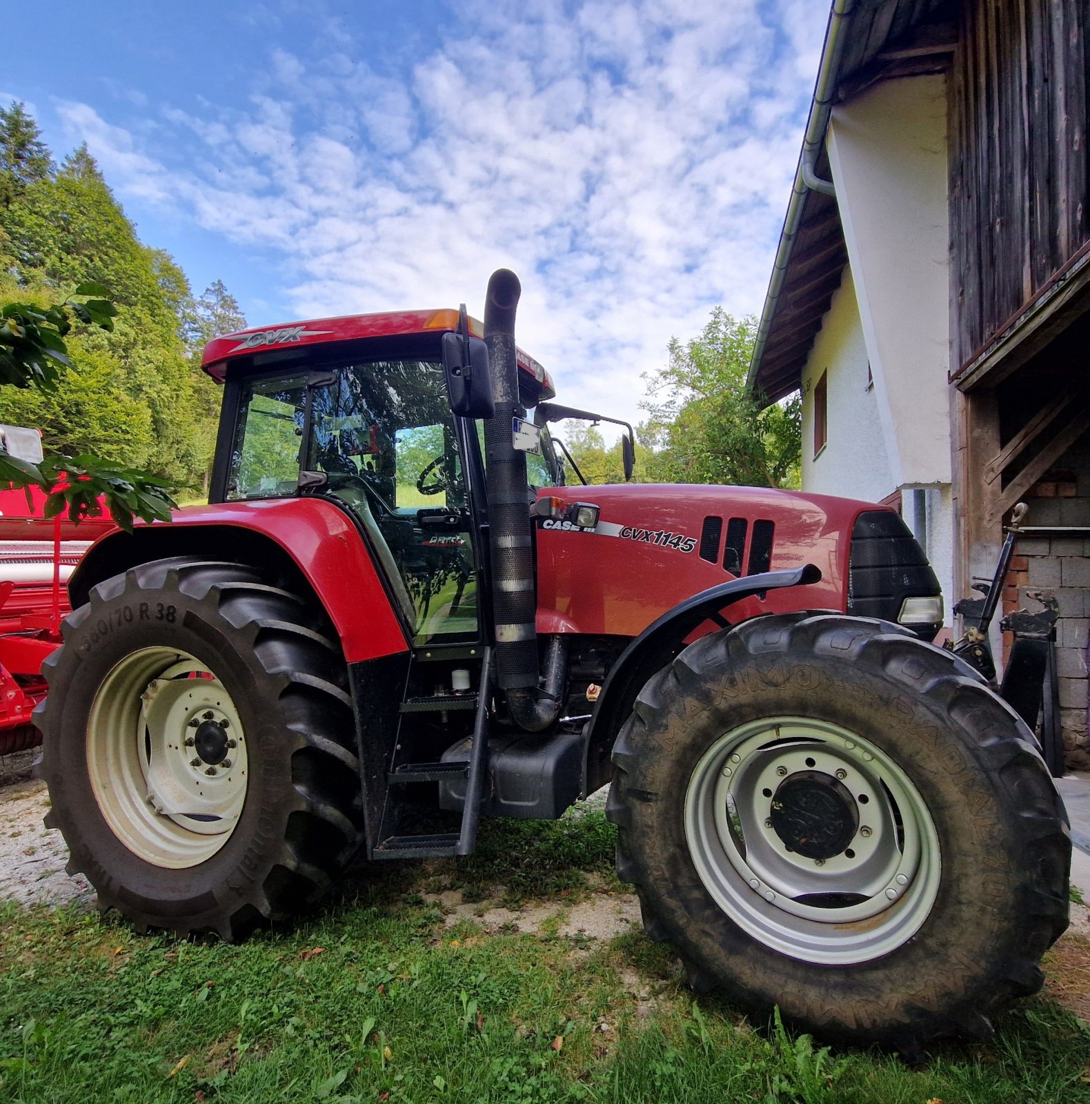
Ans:
<svg viewBox="0 0 1090 1104"><path fill-rule="evenodd" d="M765 405L746 388L756 332L751 316L736 319L716 307L698 338L672 338L667 365L644 374L650 396L641 405L650 417L641 429L655 449L652 478L799 485L801 401Z"/></svg>

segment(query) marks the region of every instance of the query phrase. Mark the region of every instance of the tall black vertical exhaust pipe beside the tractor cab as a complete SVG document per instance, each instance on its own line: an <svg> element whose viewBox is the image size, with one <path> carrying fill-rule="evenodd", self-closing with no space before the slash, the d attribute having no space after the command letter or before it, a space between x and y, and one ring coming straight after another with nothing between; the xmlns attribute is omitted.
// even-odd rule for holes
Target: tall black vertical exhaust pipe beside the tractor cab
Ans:
<svg viewBox="0 0 1090 1104"><path fill-rule="evenodd" d="M513 272L500 268L492 274L484 300L484 343L495 415L484 423L484 448L496 681L506 694L512 720L530 732L541 732L556 721L563 704L567 640L563 636L549 640L542 693L537 688L537 588L526 454L512 439L513 418L526 416L519 399L515 359L515 309L521 294Z"/></svg>

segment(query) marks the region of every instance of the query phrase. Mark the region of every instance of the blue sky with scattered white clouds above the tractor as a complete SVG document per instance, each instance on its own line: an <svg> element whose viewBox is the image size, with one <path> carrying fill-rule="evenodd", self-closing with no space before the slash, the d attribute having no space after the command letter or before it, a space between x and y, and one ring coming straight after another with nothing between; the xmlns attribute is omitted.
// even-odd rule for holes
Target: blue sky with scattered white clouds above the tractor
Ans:
<svg viewBox="0 0 1090 1104"><path fill-rule="evenodd" d="M9 51L54 152L87 141L149 245L252 325L523 283L560 397L638 420L708 311L758 311L823 0L65 3Z"/></svg>

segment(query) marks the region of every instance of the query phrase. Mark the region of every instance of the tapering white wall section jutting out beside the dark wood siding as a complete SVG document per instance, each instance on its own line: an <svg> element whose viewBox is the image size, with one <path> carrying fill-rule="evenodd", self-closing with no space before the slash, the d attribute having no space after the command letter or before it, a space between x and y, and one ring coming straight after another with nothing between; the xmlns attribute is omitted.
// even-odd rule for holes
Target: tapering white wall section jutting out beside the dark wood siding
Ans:
<svg viewBox="0 0 1090 1104"><path fill-rule="evenodd" d="M829 155L894 484L949 484L945 78L835 108Z"/></svg>

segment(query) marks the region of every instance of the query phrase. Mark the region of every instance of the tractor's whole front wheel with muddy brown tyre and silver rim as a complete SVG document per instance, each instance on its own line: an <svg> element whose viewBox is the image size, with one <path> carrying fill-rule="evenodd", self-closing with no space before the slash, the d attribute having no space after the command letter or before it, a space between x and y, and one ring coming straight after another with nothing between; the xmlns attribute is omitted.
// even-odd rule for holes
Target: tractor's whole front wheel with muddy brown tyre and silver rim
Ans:
<svg viewBox="0 0 1090 1104"><path fill-rule="evenodd" d="M761 617L641 691L618 872L701 988L912 1051L990 1030L1067 925L1070 841L1012 710L881 622Z"/></svg>

